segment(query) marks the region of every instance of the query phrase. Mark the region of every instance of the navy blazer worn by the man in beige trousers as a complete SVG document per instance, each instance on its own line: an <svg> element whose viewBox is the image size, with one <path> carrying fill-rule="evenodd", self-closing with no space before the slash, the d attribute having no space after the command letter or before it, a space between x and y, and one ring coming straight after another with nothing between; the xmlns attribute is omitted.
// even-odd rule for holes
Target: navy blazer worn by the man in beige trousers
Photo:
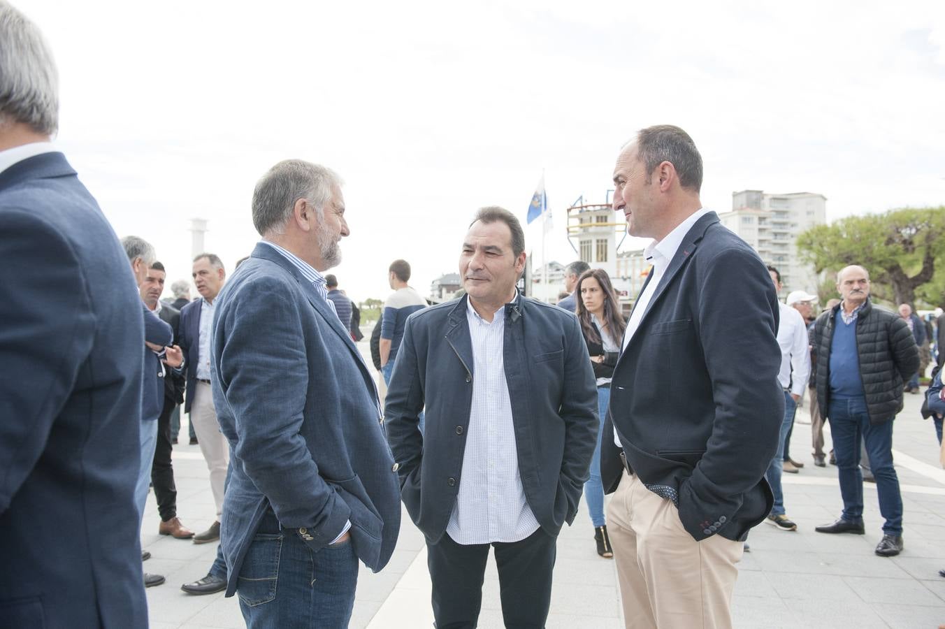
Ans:
<svg viewBox="0 0 945 629"><path fill-rule="evenodd" d="M614 367L601 446L609 493L623 471L615 426L634 473L677 502L696 540L745 539L765 519L784 416L778 315L758 254L715 212L699 218Z"/></svg>

